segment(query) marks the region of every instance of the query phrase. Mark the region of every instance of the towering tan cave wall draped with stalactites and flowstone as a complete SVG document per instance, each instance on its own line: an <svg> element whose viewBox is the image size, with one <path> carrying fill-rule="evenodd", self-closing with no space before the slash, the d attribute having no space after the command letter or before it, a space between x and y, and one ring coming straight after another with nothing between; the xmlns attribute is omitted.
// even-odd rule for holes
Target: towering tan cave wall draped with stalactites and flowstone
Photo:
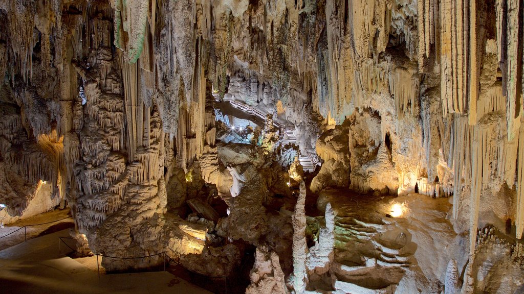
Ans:
<svg viewBox="0 0 524 294"><path fill-rule="evenodd" d="M471 254L479 221L510 219L520 239L523 13L521 0L4 0L0 202L21 213L47 180L96 252L160 251L179 221L173 175L197 164L227 193L213 104L234 100L320 157L315 191L453 195ZM179 253L198 251L176 232L198 244Z"/></svg>

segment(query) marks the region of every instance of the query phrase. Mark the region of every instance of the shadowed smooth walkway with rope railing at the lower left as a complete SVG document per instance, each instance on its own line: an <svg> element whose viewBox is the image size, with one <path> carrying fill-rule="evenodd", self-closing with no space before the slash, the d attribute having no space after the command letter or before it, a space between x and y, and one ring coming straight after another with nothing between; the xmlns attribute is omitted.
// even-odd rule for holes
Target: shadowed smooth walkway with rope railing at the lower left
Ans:
<svg viewBox="0 0 524 294"><path fill-rule="evenodd" d="M168 272L101 275L58 250L68 230L0 251L2 293L211 293ZM64 248L62 248L63 250Z"/></svg>

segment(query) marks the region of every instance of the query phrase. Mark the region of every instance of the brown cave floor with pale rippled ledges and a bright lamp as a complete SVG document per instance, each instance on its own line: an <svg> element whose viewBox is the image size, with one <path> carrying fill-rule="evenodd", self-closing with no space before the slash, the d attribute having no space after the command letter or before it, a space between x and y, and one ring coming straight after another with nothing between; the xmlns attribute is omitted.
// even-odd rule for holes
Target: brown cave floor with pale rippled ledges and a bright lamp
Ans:
<svg viewBox="0 0 524 294"><path fill-rule="evenodd" d="M457 242L448 219L450 198L370 196L328 189L320 194L318 205L328 202L335 211L331 270L337 289L408 293L412 285L401 281L405 275L420 280L429 274L431 280L438 280L439 273L445 272L451 257L433 253ZM436 285L428 292L439 289Z"/></svg>

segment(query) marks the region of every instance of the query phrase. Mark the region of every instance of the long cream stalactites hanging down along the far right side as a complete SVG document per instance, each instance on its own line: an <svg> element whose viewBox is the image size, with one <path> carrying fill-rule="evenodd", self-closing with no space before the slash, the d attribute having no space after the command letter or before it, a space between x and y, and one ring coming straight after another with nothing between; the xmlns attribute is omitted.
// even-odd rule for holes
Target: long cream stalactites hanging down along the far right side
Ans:
<svg viewBox="0 0 524 294"><path fill-rule="evenodd" d="M417 4L419 69L431 74L431 56L440 66L441 151L454 169L453 194L460 195L465 187L471 190L473 254L482 193L494 194L504 183L509 187L516 183L517 238L524 230L520 168L524 41L518 36L522 7L515 0L497 0L494 7L465 0ZM457 218L458 196L453 212Z"/></svg>

